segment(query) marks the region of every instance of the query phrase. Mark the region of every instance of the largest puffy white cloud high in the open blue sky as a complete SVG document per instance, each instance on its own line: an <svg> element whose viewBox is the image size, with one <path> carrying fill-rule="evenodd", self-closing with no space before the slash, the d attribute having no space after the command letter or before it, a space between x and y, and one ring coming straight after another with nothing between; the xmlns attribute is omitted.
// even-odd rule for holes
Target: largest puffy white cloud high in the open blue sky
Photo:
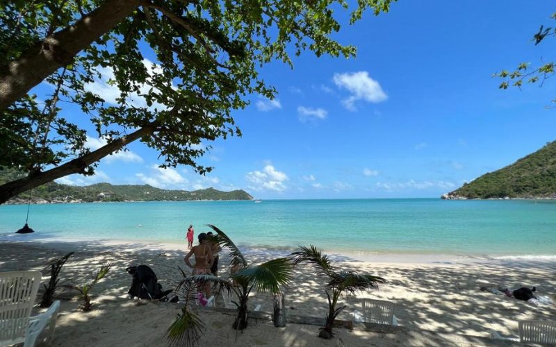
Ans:
<svg viewBox="0 0 556 347"><path fill-rule="evenodd" d="M333 80L336 86L351 92L351 95L342 101L347 110L357 110L354 105L357 100L379 103L388 99L380 84L370 78L367 71L334 74Z"/></svg>

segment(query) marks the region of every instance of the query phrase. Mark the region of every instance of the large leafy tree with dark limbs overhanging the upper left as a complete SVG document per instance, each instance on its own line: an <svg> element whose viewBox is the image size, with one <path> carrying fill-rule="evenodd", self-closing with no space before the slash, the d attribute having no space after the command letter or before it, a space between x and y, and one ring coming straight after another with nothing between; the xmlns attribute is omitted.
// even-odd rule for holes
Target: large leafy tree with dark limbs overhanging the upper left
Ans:
<svg viewBox="0 0 556 347"><path fill-rule="evenodd" d="M350 23L391 0L361 0ZM163 167L197 164L202 139L240 135L232 110L250 94L275 90L257 69L290 54L353 56L330 36L340 29L341 0L186 1L49 0L2 2L0 9L0 167L28 172L0 186L0 203L69 174L93 174L95 162L140 139ZM147 60L146 50L156 55ZM104 76L115 100L95 93ZM46 101L29 94L47 81ZM60 101L65 101L64 103ZM107 140L90 152L85 129L60 116L79 105Z"/></svg>

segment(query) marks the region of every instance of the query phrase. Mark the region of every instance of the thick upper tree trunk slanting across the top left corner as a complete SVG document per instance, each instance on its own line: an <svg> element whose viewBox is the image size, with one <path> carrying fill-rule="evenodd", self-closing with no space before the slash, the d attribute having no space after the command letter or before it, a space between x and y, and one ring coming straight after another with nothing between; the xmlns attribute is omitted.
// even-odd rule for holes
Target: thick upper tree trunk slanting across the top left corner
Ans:
<svg viewBox="0 0 556 347"><path fill-rule="evenodd" d="M108 33L138 8L140 0L107 0L89 15L38 42L0 74L0 110L21 99L60 67L72 62L79 51Z"/></svg>

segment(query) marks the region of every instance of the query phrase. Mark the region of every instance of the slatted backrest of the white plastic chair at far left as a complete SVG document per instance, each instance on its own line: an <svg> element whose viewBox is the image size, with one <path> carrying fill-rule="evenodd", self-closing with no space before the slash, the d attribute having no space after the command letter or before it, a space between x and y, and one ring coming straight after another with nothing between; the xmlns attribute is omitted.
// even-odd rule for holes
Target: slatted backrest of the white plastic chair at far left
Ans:
<svg viewBox="0 0 556 347"><path fill-rule="evenodd" d="M39 271L0 273L0 346L31 346L26 334L40 278Z"/></svg>

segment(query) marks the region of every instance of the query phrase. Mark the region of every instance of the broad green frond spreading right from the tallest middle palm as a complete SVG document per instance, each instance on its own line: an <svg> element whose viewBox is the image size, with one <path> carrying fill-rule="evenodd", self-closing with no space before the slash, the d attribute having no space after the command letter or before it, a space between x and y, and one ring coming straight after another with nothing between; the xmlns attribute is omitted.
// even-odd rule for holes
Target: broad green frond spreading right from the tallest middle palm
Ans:
<svg viewBox="0 0 556 347"><path fill-rule="evenodd" d="M235 273L232 278L240 282L247 279L256 291L278 294L280 287L291 282L293 264L288 258L278 258Z"/></svg>

